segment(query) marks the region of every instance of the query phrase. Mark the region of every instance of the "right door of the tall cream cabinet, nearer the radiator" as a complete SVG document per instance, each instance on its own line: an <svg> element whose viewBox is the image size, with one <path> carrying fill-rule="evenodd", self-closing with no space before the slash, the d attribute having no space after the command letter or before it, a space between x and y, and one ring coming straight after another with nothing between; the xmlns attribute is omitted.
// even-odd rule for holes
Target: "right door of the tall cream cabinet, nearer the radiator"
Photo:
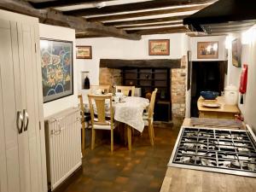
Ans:
<svg viewBox="0 0 256 192"><path fill-rule="evenodd" d="M37 79L37 61L36 44L33 25L18 24L18 38L20 48L20 58L24 61L20 67L20 77L22 77L21 87L22 95L25 96L24 109L28 114L28 126L25 131L24 148L28 154L27 162L24 164L26 169L26 187L27 191L42 191L42 183L39 181L42 177L41 150L39 135L38 118L38 79ZM42 103L41 103L42 104ZM25 124L27 121L25 120Z"/></svg>

